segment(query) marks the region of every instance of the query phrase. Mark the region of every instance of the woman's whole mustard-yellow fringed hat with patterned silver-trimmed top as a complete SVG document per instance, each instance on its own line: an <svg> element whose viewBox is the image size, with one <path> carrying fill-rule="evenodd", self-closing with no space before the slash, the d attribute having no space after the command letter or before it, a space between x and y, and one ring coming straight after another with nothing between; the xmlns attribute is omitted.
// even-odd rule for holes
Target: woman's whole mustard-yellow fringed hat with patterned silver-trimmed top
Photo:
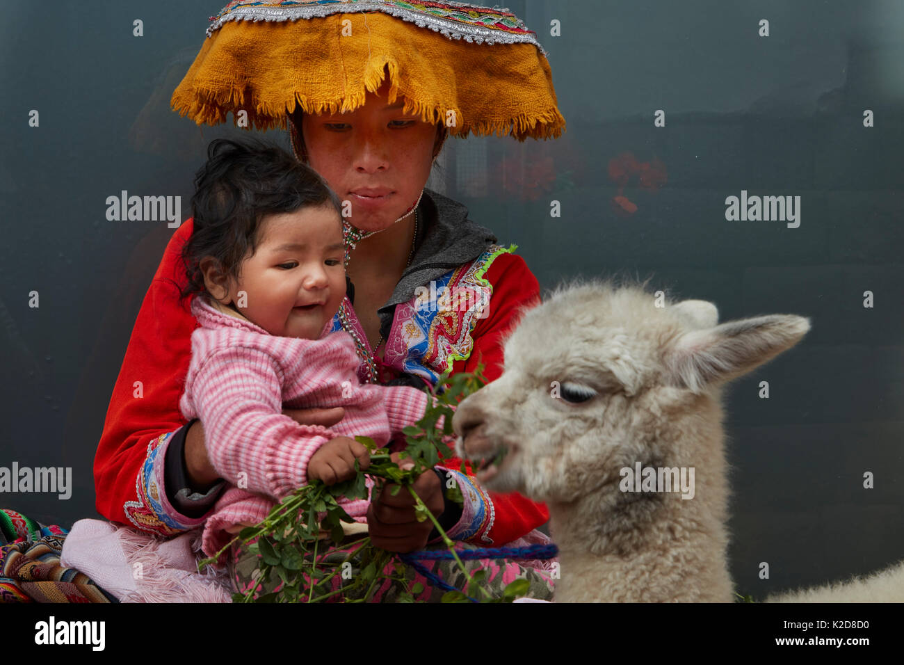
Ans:
<svg viewBox="0 0 904 665"><path fill-rule="evenodd" d="M536 35L505 9L402 0L235 0L211 17L171 101L218 125L259 129L287 115L362 106L388 71L390 103L453 136L557 138L565 128Z"/></svg>

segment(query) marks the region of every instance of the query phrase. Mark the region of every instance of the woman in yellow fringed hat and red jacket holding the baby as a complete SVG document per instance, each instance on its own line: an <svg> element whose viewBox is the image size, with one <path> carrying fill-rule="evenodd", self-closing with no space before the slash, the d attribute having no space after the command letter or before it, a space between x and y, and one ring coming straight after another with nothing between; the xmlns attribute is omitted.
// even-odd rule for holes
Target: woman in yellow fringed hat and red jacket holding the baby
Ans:
<svg viewBox="0 0 904 665"><path fill-rule="evenodd" d="M495 244L464 206L424 185L447 133L523 140L558 136L564 120L549 64L513 14L437 3L426 9L231 3L173 103L199 124L231 111L258 128L286 126L297 157L349 202L349 290L333 329L356 339L363 380L435 384L448 368L473 371L483 362L492 381L501 374L499 343L519 309L539 302L539 285L513 247ZM416 26L425 22L433 30ZM178 411L197 326L177 298L178 254L191 231L188 220L174 233L147 292L94 466L99 512L164 537L202 525L225 486L207 460L202 423L183 423ZM438 310L416 298L431 286L477 294L488 305ZM286 413L324 426L342 417L341 409ZM547 520L545 507L490 495L461 473L457 482L464 508L444 499L438 473L415 484L450 537L482 546L540 538L533 529ZM368 528L374 545L395 552L431 539L407 492L374 498Z"/></svg>

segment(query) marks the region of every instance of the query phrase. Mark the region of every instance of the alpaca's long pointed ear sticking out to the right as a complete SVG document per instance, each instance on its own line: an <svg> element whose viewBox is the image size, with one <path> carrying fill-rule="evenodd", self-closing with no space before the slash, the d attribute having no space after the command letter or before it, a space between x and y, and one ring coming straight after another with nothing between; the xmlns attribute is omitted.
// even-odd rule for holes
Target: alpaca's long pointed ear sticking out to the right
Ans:
<svg viewBox="0 0 904 665"><path fill-rule="evenodd" d="M747 374L795 346L809 329L808 318L772 314L692 330L666 351L666 371L673 385L699 394L707 385Z"/></svg>

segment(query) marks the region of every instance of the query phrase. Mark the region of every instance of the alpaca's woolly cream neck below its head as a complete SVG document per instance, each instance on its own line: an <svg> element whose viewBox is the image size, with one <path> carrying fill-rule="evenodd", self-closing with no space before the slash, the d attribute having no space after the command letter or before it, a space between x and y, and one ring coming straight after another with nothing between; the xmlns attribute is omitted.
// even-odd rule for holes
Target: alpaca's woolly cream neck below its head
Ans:
<svg viewBox="0 0 904 665"><path fill-rule="evenodd" d="M576 504L549 504L551 535L559 546L556 602L732 600L728 536L716 517L723 511L699 493L689 500L641 499L614 511L600 510L599 497ZM632 511L643 512L632 518Z"/></svg>

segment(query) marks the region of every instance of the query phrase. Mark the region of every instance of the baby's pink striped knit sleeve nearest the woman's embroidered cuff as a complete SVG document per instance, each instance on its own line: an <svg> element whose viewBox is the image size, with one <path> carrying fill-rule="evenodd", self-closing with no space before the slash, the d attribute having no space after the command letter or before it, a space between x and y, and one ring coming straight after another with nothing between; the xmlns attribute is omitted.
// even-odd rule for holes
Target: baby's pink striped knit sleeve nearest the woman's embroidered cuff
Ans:
<svg viewBox="0 0 904 665"><path fill-rule="evenodd" d="M204 361L190 388L213 468L232 484L274 499L306 485L311 456L338 436L282 413L280 374L263 351L226 347Z"/></svg>

